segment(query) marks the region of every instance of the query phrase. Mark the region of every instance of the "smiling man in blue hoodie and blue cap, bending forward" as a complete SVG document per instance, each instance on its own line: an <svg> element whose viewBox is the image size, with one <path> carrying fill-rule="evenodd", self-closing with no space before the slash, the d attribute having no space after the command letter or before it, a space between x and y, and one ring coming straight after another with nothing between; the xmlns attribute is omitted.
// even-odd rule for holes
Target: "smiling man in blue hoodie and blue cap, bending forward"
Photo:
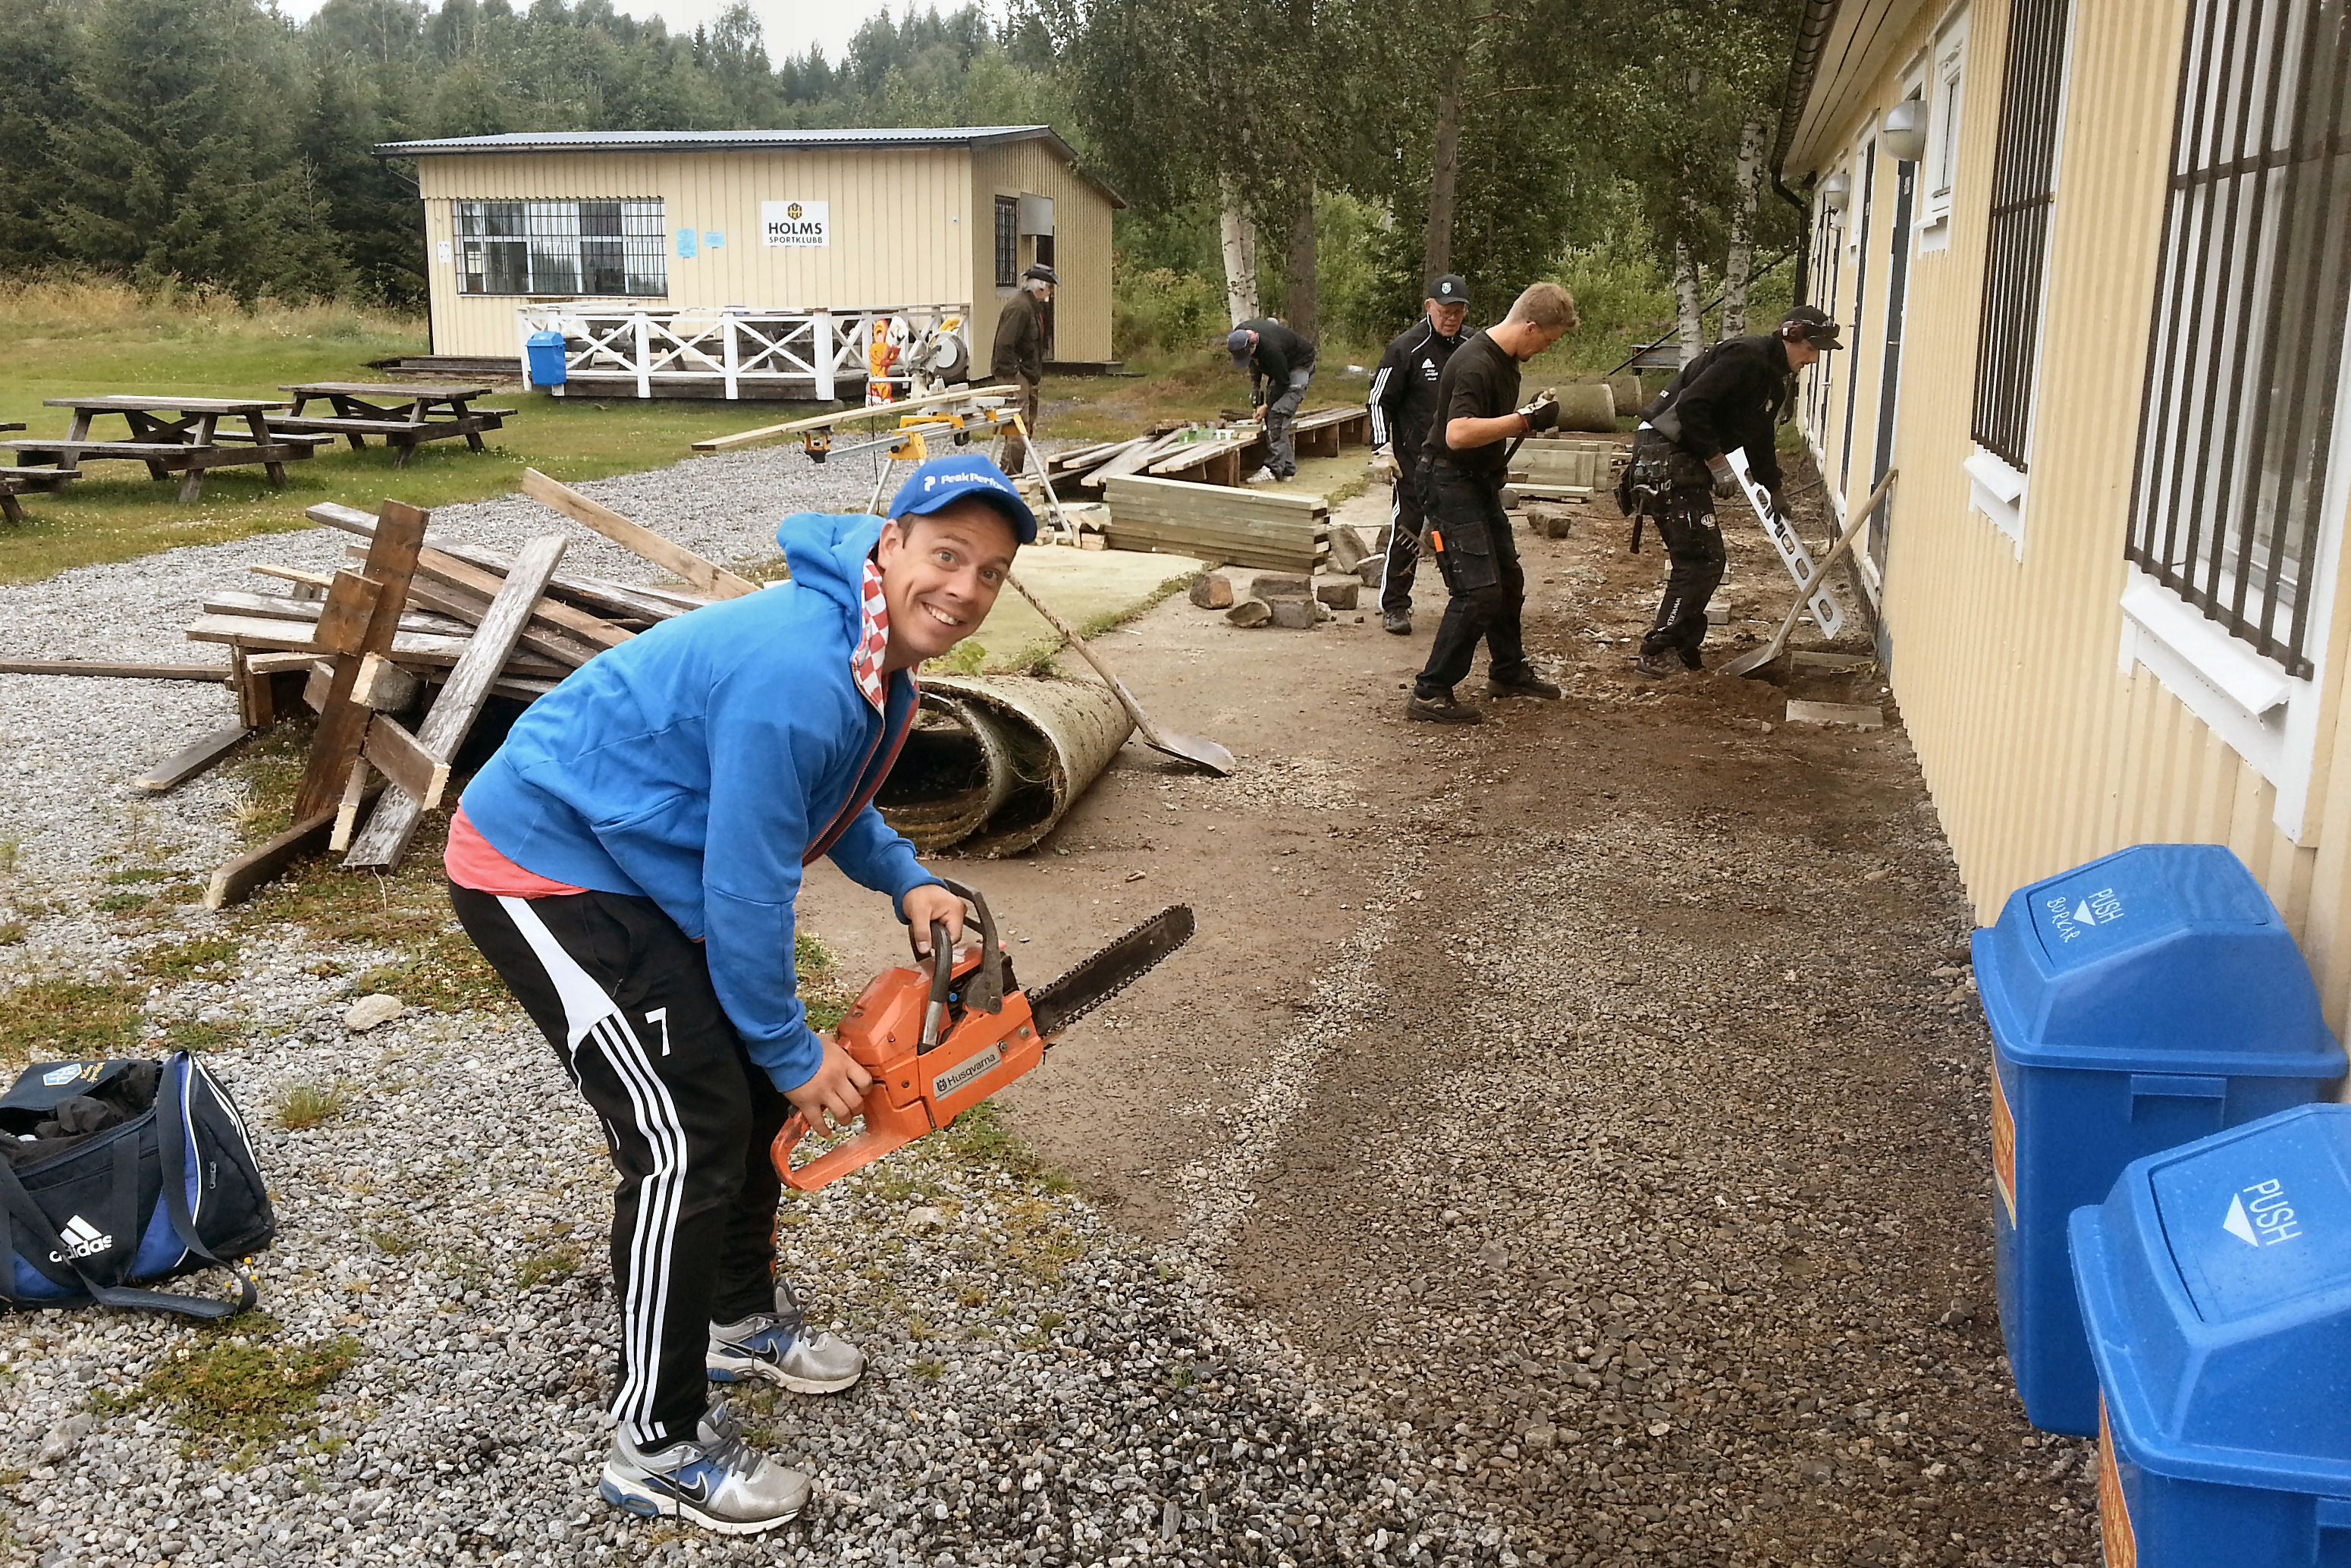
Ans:
<svg viewBox="0 0 2351 1568"><path fill-rule="evenodd" d="M964 905L872 797L915 665L980 628L1037 538L985 456L931 458L891 520L802 512L781 588L663 621L531 705L449 823L449 903L604 1124L621 1182L614 1439L597 1490L752 1535L809 1476L752 1453L710 1382L802 1394L865 1356L806 1333L776 1281L769 1145L849 1121L870 1077L809 1027L792 903L818 856L896 900L929 950Z"/></svg>

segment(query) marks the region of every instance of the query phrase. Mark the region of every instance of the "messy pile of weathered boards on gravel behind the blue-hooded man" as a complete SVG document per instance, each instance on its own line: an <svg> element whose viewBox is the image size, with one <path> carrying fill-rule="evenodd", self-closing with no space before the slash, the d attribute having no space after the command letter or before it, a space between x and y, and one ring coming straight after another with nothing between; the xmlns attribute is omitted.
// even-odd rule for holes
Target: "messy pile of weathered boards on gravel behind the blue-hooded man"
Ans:
<svg viewBox="0 0 2351 1568"><path fill-rule="evenodd" d="M317 712L292 825L219 867L209 907L247 898L317 849L343 853L346 870L400 865L491 696L534 701L647 625L757 588L536 470L524 473L522 489L689 588L560 574L562 534L505 555L430 531L430 515L400 501L374 515L313 505L313 522L364 545L355 543L334 574L254 567L289 583L287 592L223 590L205 599L188 637L228 644L237 724L143 780L169 788L193 778L294 701ZM421 722L404 726L397 715L421 701Z"/></svg>

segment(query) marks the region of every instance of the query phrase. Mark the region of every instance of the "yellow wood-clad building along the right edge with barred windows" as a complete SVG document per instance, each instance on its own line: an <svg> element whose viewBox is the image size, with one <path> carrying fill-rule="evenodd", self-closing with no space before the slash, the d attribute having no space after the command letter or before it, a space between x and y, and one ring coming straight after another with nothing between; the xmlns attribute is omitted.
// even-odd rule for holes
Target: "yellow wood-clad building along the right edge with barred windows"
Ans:
<svg viewBox="0 0 2351 1568"><path fill-rule="evenodd" d="M1813 0L1773 167L1848 353L1801 418L1980 917L2231 846L2351 1001L2351 14Z"/></svg>

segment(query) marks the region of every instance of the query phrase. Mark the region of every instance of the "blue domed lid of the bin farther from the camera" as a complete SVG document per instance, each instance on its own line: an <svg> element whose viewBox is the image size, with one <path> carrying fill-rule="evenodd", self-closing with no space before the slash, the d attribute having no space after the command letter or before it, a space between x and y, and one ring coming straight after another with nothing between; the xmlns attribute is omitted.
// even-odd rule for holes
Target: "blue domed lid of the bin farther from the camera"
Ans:
<svg viewBox="0 0 2351 1568"><path fill-rule="evenodd" d="M1975 933L1975 985L2029 1067L2344 1072L2302 950L2219 844L2137 844L2020 889Z"/></svg>

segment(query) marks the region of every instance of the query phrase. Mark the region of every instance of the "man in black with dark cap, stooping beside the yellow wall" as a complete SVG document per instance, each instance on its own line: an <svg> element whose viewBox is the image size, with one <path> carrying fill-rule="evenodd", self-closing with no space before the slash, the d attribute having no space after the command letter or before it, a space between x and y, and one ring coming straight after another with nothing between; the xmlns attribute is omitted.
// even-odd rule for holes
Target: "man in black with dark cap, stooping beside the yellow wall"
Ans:
<svg viewBox="0 0 2351 1568"><path fill-rule="evenodd" d="M1775 425L1794 409L1796 371L1843 348L1838 331L1824 310L1796 306L1775 331L1726 339L1683 364L1641 411L1617 505L1634 520L1634 550L1641 522L1657 524L1669 567L1657 618L1634 658L1641 675L1704 668L1697 649L1707 639L1707 599L1723 581L1714 498L1740 489L1728 454L1747 449L1749 473L1770 491L1773 510L1784 512Z"/></svg>

